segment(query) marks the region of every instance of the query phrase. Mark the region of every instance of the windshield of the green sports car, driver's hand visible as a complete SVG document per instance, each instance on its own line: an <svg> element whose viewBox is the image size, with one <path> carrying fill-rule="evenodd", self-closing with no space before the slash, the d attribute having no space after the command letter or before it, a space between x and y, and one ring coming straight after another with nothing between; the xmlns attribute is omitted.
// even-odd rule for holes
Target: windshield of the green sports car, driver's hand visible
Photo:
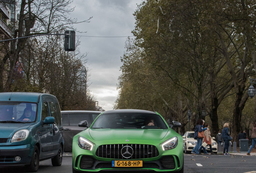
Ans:
<svg viewBox="0 0 256 173"><path fill-rule="evenodd" d="M101 114L92 129L167 129L161 116L150 113L106 113Z"/></svg>

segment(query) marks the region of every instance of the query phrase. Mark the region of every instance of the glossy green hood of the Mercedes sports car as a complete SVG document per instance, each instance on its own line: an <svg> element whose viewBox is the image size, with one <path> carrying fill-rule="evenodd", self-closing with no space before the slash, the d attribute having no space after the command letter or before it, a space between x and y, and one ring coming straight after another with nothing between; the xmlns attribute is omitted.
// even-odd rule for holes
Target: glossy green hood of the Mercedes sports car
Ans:
<svg viewBox="0 0 256 173"><path fill-rule="evenodd" d="M160 141L169 129L88 129L91 138L98 140L138 139Z"/></svg>

